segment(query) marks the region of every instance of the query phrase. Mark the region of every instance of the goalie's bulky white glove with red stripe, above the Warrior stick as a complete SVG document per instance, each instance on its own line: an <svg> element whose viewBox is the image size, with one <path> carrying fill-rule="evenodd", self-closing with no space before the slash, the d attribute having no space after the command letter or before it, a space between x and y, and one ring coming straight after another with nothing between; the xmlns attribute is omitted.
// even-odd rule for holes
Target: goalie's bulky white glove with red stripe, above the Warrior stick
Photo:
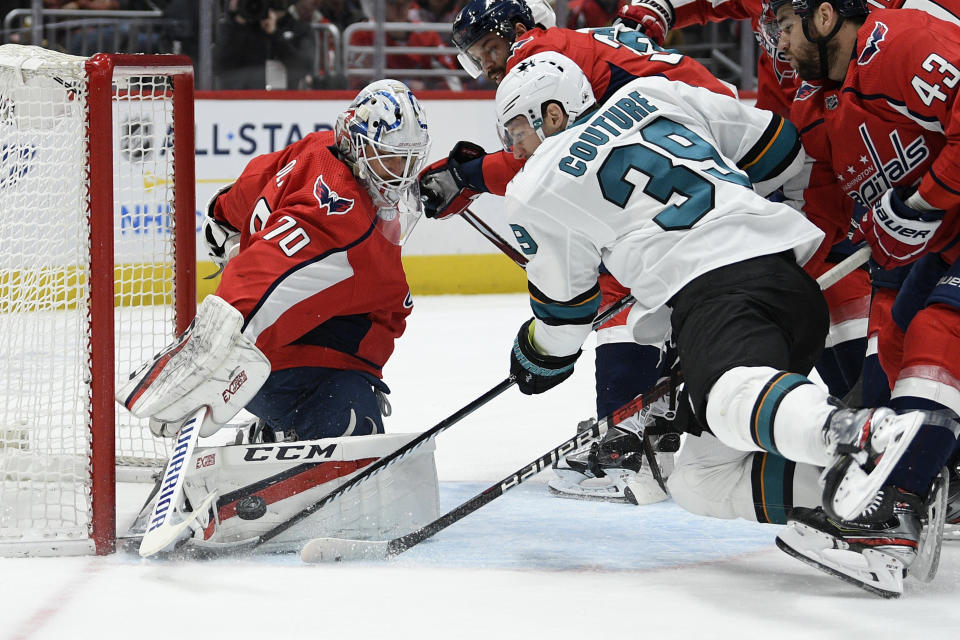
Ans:
<svg viewBox="0 0 960 640"><path fill-rule="evenodd" d="M167 437L208 406L214 424L200 435L212 435L270 375L270 361L244 337L242 326L239 311L218 296L207 296L176 342L130 374L117 391L117 402L135 416L151 418L151 431Z"/></svg>

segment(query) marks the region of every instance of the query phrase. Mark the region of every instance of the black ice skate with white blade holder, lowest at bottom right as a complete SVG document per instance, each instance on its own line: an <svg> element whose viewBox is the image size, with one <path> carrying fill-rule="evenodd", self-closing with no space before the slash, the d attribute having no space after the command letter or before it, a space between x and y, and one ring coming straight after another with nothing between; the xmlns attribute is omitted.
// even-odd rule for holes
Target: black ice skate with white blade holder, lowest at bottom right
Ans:
<svg viewBox="0 0 960 640"><path fill-rule="evenodd" d="M835 520L820 508L795 508L777 546L850 584L896 598L917 557L923 513L919 496L889 485L853 521Z"/></svg>

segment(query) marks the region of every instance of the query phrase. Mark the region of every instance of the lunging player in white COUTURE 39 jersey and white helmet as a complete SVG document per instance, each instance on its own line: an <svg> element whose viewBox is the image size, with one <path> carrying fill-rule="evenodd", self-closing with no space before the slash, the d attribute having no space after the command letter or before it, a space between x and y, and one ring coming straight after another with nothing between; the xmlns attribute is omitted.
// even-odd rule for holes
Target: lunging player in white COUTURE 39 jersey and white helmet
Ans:
<svg viewBox="0 0 960 640"><path fill-rule="evenodd" d="M803 375L828 318L799 265L822 233L762 197L792 172L762 153L789 123L656 77L596 105L556 53L512 70L497 111L504 145L528 158L506 194L534 312L510 355L521 391L573 372L602 260L638 300L634 334L672 336L693 410L720 442L826 467L825 508L859 513L924 415L849 409Z"/></svg>

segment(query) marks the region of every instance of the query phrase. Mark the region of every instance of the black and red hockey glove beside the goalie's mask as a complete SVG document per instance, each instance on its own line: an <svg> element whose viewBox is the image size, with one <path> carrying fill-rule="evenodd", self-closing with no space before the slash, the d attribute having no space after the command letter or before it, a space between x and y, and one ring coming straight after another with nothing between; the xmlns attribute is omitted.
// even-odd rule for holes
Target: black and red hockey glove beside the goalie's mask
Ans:
<svg viewBox="0 0 960 640"><path fill-rule="evenodd" d="M463 164L482 160L487 152L483 147L461 140L444 160L438 160L420 173L420 198L423 213L428 218L443 220L462 213L481 193L482 185L467 177Z"/></svg>

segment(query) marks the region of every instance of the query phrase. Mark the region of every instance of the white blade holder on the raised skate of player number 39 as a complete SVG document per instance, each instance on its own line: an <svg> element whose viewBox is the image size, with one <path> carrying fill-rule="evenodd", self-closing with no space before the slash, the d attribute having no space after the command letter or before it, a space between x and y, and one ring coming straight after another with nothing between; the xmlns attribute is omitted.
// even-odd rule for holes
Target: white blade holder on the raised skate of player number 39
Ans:
<svg viewBox="0 0 960 640"><path fill-rule="evenodd" d="M923 425L923 412L915 411L912 415L910 426L904 429L896 442L887 446L880 462L870 473L866 473L850 456L841 457L824 472L823 510L828 516L837 520L853 520L867 508Z"/></svg>

